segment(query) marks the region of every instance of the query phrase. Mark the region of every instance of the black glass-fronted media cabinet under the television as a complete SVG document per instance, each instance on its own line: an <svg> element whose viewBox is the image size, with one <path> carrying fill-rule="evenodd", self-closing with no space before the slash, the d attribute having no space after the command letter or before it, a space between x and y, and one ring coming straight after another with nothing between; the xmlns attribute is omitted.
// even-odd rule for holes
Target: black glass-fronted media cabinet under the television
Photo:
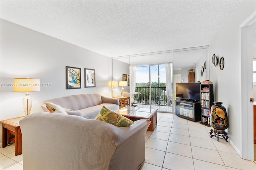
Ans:
<svg viewBox="0 0 256 170"><path fill-rule="evenodd" d="M175 115L198 122L201 120L200 101L176 100Z"/></svg>

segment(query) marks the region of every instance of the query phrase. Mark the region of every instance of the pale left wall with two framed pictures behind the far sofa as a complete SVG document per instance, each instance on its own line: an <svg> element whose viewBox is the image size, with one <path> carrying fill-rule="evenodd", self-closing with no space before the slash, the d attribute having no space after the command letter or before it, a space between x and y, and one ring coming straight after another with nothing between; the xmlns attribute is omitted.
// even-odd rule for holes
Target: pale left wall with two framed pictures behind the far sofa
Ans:
<svg viewBox="0 0 256 170"><path fill-rule="evenodd" d="M6 20L0 20L0 28L0 83L13 83L16 77L37 78L40 83L51 83L50 87L41 87L40 92L30 93L33 99L31 113L42 111L40 105L56 97L81 93L100 93L110 97L109 57ZM81 89L66 89L66 66L81 68ZM84 68L96 70L96 87L84 88ZM122 68L119 71L122 76ZM22 99L25 93L12 90L12 87L0 86L0 120L24 115Z"/></svg>

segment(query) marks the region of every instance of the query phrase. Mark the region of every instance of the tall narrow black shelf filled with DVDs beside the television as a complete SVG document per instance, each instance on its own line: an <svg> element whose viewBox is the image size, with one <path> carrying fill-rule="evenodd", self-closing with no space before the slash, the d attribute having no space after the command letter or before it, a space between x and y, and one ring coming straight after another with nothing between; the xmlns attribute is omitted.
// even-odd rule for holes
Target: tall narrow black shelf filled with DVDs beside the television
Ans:
<svg viewBox="0 0 256 170"><path fill-rule="evenodd" d="M201 83L201 122L200 124L210 127L210 111L213 100L213 84L210 82Z"/></svg>

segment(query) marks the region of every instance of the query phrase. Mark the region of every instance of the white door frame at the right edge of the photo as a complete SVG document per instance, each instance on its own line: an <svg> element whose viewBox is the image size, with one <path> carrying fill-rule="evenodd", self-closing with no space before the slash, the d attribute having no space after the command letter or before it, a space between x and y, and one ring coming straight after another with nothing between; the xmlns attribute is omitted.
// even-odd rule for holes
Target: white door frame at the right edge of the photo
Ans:
<svg viewBox="0 0 256 170"><path fill-rule="evenodd" d="M254 160L254 142L253 142L253 103L249 99L253 97L253 25L256 23L256 11L252 13L240 25L240 157L247 160ZM242 76L246 75L246 76ZM242 93L243 92L243 93Z"/></svg>

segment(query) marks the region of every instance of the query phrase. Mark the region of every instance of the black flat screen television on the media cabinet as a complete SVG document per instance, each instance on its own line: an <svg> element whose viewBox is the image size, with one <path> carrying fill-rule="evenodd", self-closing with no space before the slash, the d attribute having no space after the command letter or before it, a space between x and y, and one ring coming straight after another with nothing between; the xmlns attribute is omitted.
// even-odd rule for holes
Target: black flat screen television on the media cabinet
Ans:
<svg viewBox="0 0 256 170"><path fill-rule="evenodd" d="M176 83L176 98L188 101L200 101L200 83Z"/></svg>

